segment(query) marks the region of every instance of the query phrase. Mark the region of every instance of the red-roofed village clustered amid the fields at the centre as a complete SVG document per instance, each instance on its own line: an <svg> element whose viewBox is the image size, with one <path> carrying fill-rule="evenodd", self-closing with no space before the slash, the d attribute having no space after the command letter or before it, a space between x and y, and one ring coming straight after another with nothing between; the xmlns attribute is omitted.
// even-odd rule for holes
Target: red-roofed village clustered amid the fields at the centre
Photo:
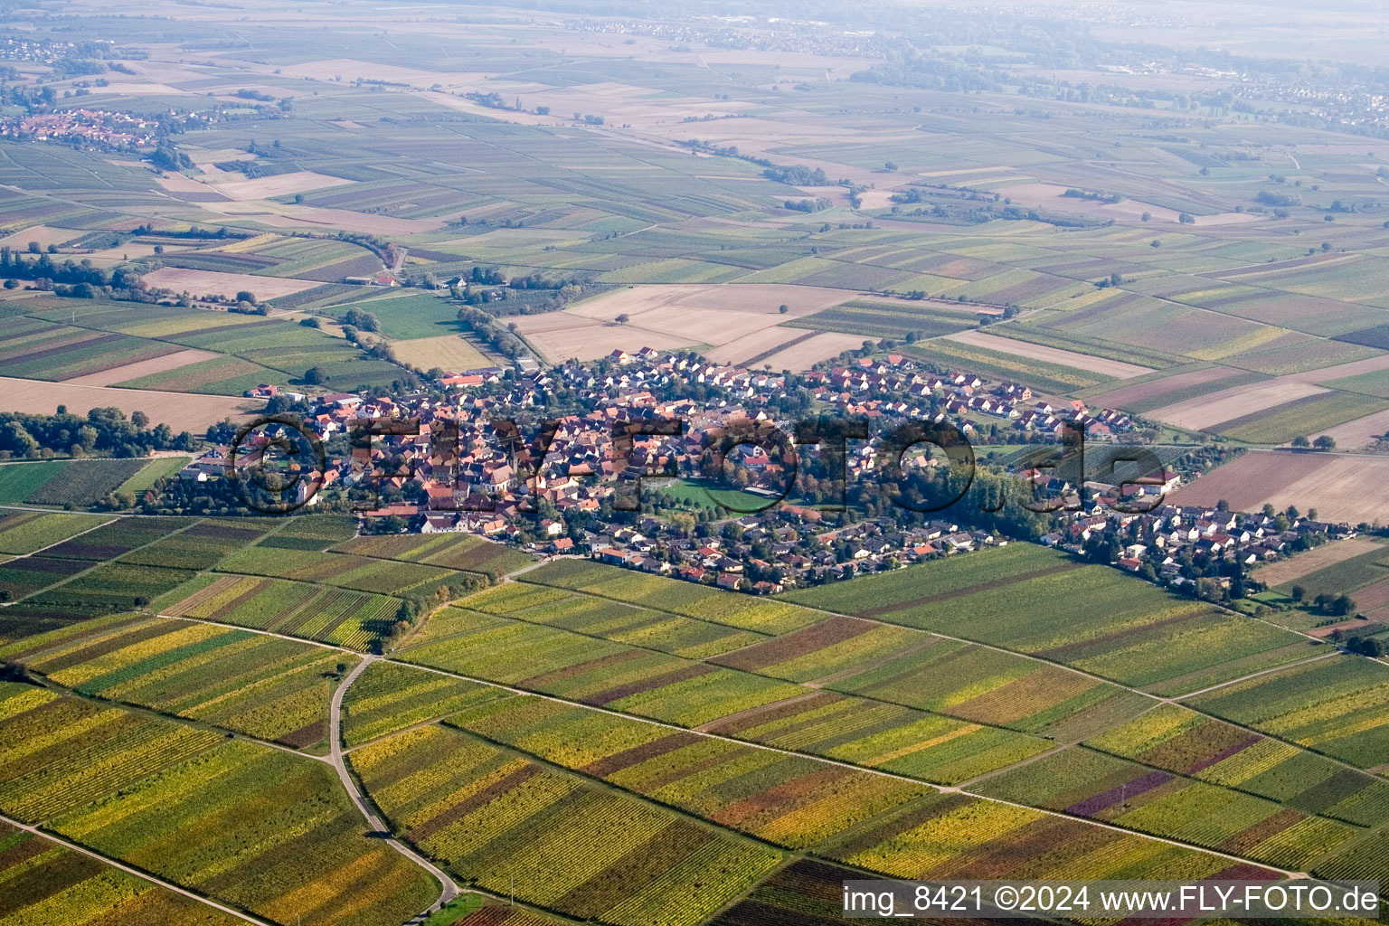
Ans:
<svg viewBox="0 0 1389 926"><path fill-rule="evenodd" d="M683 397L692 386L704 397ZM903 422L951 422L979 441L981 453L1001 441L1054 453L1068 428L1082 430L1086 441L1115 444L1143 428L1122 412L1082 401L1053 404L1021 383L935 372L895 353L790 380L643 348L615 350L593 364L542 369L526 358L515 368L447 373L436 390L407 396L306 398L271 386L253 394L311 407L306 423L338 453L329 454L318 494L301 501L351 498L364 530L475 533L546 557L590 557L754 594L1003 546L1008 536L961 523L958 515L854 519L835 505L806 504L783 461L757 444L728 454L725 472L733 479L724 487L738 493L742 503L735 505L701 478L708 471L706 436L718 429L790 430L786 422L796 412L870 422L870 439L845 447L845 478L853 485L879 478L881 435ZM797 394L808 407L797 404ZM568 397L568 407L557 396ZM372 419L378 425L368 454L360 439L346 439ZM522 437L531 425L515 419L547 419L553 435L535 425L538 436ZM629 448L618 447L615 435L650 419L683 422L682 433L636 433ZM226 448L217 448L182 476L215 479L228 465ZM936 465L922 451L901 461L904 471ZM1314 511L1238 514L1170 504L1165 497L1183 482L1182 464L1174 466L1124 486L1036 465L1011 472L1031 485L1038 510L1049 512L1049 529L1029 539L1203 597L1242 596L1246 566L1354 533L1349 525L1317 521ZM617 494L624 483L631 489L635 473L642 473L644 504L622 511ZM672 483L693 486L707 503L657 494Z"/></svg>

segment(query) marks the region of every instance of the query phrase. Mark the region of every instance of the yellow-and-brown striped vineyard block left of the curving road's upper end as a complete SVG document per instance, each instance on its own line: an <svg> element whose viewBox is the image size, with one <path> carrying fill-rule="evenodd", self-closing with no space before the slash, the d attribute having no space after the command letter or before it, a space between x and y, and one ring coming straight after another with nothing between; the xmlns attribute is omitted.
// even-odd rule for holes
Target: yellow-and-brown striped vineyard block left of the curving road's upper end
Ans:
<svg viewBox="0 0 1389 926"><path fill-rule="evenodd" d="M310 748L328 732L342 654L264 634L158 618L110 618L0 648L74 691Z"/></svg>

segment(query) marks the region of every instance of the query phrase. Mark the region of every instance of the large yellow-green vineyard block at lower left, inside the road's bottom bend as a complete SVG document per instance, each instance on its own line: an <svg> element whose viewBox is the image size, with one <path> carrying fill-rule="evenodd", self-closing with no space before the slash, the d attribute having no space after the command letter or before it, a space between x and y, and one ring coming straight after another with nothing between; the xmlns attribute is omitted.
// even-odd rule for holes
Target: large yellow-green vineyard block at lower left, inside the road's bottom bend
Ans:
<svg viewBox="0 0 1389 926"><path fill-rule="evenodd" d="M0 812L286 926L310 897L317 915L368 926L436 893L367 839L308 758L14 683L0 686Z"/></svg>

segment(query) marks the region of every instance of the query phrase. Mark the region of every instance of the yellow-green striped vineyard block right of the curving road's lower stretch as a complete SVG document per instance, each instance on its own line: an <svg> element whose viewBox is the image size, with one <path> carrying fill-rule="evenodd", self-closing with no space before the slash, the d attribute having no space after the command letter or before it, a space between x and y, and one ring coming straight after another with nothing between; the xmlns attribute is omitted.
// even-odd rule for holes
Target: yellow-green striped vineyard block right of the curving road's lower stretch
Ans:
<svg viewBox="0 0 1389 926"><path fill-rule="evenodd" d="M703 922L781 852L428 726L350 754L393 826L458 879L618 926Z"/></svg>

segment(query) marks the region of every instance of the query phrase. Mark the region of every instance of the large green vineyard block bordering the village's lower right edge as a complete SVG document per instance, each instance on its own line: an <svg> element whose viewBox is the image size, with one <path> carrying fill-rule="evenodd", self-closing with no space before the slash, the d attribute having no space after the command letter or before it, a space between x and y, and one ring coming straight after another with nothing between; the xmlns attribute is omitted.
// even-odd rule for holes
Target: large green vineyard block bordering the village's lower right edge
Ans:
<svg viewBox="0 0 1389 926"><path fill-rule="evenodd" d="M1160 696L1315 655L1297 634L1015 544L785 597L1000 646ZM1036 601L1050 603L1043 614Z"/></svg>

